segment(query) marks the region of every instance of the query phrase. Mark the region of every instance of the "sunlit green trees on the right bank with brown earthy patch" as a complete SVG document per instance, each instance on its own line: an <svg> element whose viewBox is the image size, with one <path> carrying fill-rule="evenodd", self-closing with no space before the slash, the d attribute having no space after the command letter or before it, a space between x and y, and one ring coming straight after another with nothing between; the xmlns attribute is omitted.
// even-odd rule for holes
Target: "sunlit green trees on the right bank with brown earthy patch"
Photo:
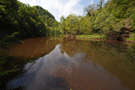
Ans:
<svg viewBox="0 0 135 90"><path fill-rule="evenodd" d="M61 17L63 34L90 35L103 34L110 39L125 40L135 31L135 1L109 0L104 4L89 5L83 17L74 14Z"/></svg>

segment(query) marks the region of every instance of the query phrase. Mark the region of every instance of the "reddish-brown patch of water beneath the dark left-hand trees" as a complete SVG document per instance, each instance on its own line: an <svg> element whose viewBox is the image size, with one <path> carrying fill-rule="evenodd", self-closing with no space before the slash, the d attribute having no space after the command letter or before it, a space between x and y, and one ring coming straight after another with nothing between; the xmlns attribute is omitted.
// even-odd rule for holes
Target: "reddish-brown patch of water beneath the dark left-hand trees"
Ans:
<svg viewBox="0 0 135 90"><path fill-rule="evenodd" d="M41 37L24 40L23 44L10 46L4 53L8 56L38 58L53 50L59 43L57 37Z"/></svg>

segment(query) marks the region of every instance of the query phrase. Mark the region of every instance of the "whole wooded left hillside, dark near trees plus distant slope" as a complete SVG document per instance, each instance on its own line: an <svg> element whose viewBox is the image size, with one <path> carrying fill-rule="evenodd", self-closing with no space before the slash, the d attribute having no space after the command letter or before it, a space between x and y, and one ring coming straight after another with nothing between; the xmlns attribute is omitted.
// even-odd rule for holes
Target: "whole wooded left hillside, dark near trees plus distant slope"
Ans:
<svg viewBox="0 0 135 90"><path fill-rule="evenodd" d="M2 44L32 37L49 36L57 26L54 16L40 6L17 0L0 0L0 40ZM53 28L51 28L53 29Z"/></svg>

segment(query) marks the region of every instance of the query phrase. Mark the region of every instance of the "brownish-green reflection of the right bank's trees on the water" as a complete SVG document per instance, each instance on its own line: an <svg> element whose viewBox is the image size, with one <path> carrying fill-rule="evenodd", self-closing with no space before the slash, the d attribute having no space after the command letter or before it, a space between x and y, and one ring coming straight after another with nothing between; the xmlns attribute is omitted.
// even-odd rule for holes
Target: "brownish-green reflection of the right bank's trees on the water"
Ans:
<svg viewBox="0 0 135 90"><path fill-rule="evenodd" d="M107 73L117 76L124 86L135 89L135 46L65 39L61 43L61 50L71 57L77 53L85 54L84 62L101 65Z"/></svg>

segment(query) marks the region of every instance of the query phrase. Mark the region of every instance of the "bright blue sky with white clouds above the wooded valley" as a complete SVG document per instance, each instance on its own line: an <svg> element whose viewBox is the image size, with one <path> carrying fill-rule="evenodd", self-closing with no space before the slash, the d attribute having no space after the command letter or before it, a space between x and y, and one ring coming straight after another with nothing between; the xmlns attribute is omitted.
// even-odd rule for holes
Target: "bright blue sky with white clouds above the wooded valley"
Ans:
<svg viewBox="0 0 135 90"><path fill-rule="evenodd" d="M30 6L39 5L54 15L57 21L63 15L67 17L69 14L83 15L84 8L91 4L97 4L99 0L19 0ZM107 0L105 0L106 2Z"/></svg>

